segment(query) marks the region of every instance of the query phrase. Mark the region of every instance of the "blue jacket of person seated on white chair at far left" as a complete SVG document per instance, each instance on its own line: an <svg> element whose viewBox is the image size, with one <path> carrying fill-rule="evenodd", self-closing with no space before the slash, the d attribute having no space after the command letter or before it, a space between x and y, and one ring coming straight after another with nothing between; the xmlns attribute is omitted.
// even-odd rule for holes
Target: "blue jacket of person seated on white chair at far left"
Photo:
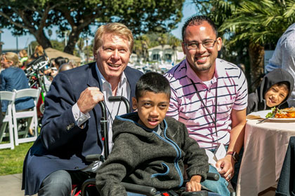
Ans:
<svg viewBox="0 0 295 196"><path fill-rule="evenodd" d="M25 72L22 69L11 66L3 71L0 74L1 85L0 90L4 91L13 91L22 90L25 88L29 88L27 76L25 76ZM8 101L2 101L1 111L6 112L8 106ZM34 99L32 97L22 97L19 99L15 99L15 110L20 111L24 109L31 109L34 107Z"/></svg>

